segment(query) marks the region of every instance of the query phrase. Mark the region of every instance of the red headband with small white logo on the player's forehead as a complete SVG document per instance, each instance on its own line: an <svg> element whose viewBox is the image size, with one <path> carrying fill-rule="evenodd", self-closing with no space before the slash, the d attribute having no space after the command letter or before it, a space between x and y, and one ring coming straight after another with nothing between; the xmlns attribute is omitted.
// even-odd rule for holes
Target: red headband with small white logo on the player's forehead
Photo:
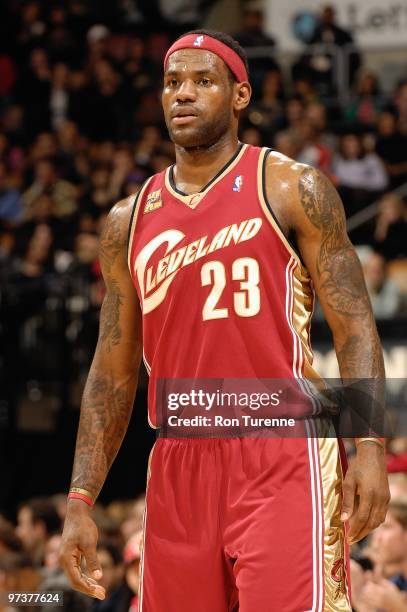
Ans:
<svg viewBox="0 0 407 612"><path fill-rule="evenodd" d="M176 40L166 53L164 71L167 68L167 62L170 55L175 51L179 51L179 49L202 49L204 51L211 51L223 59L239 83L249 80L246 66L238 54L233 51L233 49L220 42L220 40L216 40L216 38L212 38L206 34L187 34L179 40Z"/></svg>

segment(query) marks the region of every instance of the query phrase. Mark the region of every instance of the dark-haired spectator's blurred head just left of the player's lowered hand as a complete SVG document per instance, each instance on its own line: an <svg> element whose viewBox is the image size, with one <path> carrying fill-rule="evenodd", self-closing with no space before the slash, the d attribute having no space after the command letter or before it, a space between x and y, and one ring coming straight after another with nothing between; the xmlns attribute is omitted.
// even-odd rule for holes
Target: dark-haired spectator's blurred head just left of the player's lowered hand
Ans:
<svg viewBox="0 0 407 612"><path fill-rule="evenodd" d="M48 498L35 498L23 503L18 511L16 532L37 565L44 561L50 537L61 531L61 521L54 504Z"/></svg>

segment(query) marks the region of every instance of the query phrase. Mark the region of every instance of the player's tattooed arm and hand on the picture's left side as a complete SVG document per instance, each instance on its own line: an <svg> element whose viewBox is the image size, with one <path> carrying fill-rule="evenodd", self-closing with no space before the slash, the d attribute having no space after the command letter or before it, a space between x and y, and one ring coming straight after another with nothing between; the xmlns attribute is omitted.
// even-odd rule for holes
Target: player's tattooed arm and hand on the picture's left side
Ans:
<svg viewBox="0 0 407 612"><path fill-rule="evenodd" d="M140 307L127 268L127 233L132 202L123 200L109 213L100 239L106 296L99 338L82 398L71 485L94 499L120 448L133 407L142 355ZM97 529L89 507L69 500L61 547L61 565L72 586L103 599L97 584ZM87 573L81 569L82 557Z"/></svg>

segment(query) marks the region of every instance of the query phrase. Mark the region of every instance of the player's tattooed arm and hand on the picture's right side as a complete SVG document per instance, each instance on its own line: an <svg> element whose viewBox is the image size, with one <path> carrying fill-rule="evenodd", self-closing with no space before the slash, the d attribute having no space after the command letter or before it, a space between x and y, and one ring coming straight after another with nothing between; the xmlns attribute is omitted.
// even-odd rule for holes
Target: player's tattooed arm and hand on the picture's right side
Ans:
<svg viewBox="0 0 407 612"><path fill-rule="evenodd" d="M380 394L382 350L339 195L320 172L279 154L270 158L268 196L283 229L295 233L332 331L341 377L361 380L365 395ZM374 442L363 442L343 484L342 519L350 518L350 541L384 520L388 501L384 451Z"/></svg>

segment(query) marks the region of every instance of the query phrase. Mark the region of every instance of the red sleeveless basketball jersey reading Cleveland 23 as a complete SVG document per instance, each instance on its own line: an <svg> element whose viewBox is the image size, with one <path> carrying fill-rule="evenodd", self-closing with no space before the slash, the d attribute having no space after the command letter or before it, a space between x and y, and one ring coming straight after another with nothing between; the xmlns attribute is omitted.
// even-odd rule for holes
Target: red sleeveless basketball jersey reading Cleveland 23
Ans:
<svg viewBox="0 0 407 612"><path fill-rule="evenodd" d="M267 201L269 153L241 144L196 194L176 189L173 167L138 194L128 262L153 426L158 379L317 377L312 282Z"/></svg>

